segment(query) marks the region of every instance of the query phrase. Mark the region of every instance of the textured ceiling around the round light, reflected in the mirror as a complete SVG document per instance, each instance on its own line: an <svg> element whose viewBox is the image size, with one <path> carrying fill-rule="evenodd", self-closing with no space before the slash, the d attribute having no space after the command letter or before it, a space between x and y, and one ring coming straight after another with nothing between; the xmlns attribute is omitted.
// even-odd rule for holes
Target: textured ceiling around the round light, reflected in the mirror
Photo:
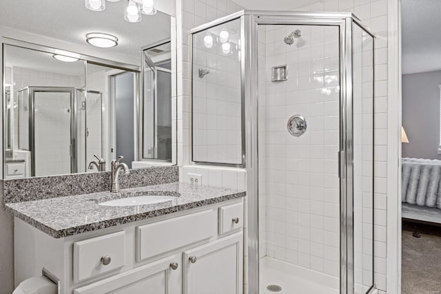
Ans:
<svg viewBox="0 0 441 294"><path fill-rule="evenodd" d="M84 0L0 1L0 25L81 45L88 45L88 32L113 34L119 45L103 50L114 54L139 56L144 45L170 38L170 16L158 12L129 23L123 19L124 1L106 1L101 12L86 9Z"/></svg>

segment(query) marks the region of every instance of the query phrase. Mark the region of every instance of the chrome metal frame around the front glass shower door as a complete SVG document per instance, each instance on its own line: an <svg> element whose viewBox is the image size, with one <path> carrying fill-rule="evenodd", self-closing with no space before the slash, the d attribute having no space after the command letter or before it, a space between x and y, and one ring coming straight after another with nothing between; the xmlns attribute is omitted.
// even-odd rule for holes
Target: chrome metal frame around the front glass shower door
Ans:
<svg viewBox="0 0 441 294"><path fill-rule="evenodd" d="M237 16L236 16L237 17ZM375 36L349 12L244 11L242 93L245 96L247 156L248 293L259 293L258 240L258 25L338 26L340 37L340 293L353 294L353 105L352 23ZM225 22L225 19L223 19ZM211 23L212 24L212 23ZM213 24L212 24L213 25ZM246 261L245 261L246 262ZM375 281L373 281L375 285ZM371 286L369 293L375 290Z"/></svg>

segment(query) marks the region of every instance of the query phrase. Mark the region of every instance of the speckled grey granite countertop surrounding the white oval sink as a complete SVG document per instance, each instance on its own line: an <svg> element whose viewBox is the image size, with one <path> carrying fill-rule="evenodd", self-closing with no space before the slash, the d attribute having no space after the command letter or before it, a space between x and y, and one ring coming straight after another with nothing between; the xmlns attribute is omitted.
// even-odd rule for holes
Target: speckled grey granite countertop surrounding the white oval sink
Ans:
<svg viewBox="0 0 441 294"><path fill-rule="evenodd" d="M176 199L157 204L132 207L109 207L99 203L141 195L176 196ZM33 227L54 238L63 238L87 231L145 220L177 211L244 197L245 191L195 187L183 182L123 189L120 193L108 191L43 200L6 203L6 210Z"/></svg>

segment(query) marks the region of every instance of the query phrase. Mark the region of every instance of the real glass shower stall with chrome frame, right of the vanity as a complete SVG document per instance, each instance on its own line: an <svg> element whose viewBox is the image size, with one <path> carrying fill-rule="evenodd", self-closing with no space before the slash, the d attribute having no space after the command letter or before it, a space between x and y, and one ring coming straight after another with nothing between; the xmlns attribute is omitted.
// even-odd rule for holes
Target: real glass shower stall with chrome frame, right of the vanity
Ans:
<svg viewBox="0 0 441 294"><path fill-rule="evenodd" d="M191 34L193 161L247 169L245 291L376 291L373 32L245 10Z"/></svg>

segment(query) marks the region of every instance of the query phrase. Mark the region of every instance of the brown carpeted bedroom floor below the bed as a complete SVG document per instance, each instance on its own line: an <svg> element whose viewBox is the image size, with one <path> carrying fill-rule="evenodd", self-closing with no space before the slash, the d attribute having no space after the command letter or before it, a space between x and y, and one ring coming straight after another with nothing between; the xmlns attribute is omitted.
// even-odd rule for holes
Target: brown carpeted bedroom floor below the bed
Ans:
<svg viewBox="0 0 441 294"><path fill-rule="evenodd" d="M402 294L441 294L441 227L403 224Z"/></svg>

